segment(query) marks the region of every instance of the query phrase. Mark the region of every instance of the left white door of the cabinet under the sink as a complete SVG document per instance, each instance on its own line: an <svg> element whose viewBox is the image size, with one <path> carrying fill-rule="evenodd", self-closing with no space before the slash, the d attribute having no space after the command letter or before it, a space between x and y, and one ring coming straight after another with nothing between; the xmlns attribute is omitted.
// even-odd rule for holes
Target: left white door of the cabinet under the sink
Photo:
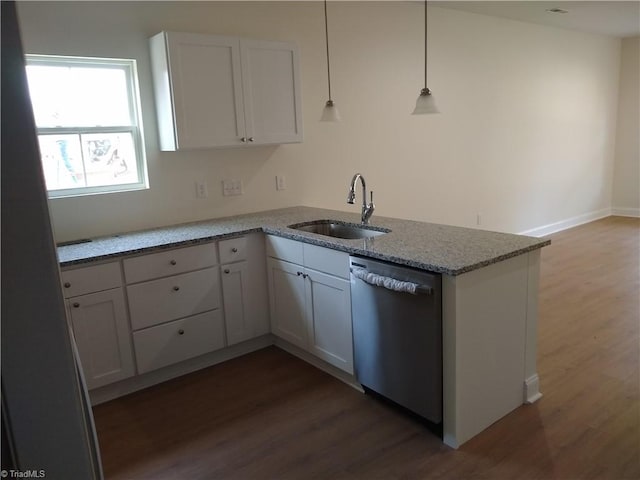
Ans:
<svg viewBox="0 0 640 480"><path fill-rule="evenodd" d="M305 284L303 268L294 263L267 259L271 332L301 348L307 348Z"/></svg>

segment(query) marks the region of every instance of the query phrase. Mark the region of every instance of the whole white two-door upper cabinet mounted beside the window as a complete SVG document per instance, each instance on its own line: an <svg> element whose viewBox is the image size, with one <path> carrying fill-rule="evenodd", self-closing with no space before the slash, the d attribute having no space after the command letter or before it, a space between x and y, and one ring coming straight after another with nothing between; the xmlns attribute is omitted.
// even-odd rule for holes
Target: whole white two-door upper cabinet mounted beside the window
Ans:
<svg viewBox="0 0 640 480"><path fill-rule="evenodd" d="M302 141L295 44L162 32L150 45L162 150Z"/></svg>

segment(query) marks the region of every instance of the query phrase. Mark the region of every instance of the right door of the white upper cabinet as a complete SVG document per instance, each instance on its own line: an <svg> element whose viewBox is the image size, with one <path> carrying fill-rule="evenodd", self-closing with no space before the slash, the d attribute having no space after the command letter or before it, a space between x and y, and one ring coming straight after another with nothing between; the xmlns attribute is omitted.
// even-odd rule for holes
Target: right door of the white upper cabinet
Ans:
<svg viewBox="0 0 640 480"><path fill-rule="evenodd" d="M247 137L256 144L302 141L295 44L240 40Z"/></svg>

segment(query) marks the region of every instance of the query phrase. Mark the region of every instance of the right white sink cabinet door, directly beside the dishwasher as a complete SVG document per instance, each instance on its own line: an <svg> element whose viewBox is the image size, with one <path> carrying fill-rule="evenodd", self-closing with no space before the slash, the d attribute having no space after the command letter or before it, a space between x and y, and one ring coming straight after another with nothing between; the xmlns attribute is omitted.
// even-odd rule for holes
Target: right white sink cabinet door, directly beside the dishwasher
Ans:
<svg viewBox="0 0 640 480"><path fill-rule="evenodd" d="M353 373L351 284L348 280L307 269L307 316L314 355Z"/></svg>

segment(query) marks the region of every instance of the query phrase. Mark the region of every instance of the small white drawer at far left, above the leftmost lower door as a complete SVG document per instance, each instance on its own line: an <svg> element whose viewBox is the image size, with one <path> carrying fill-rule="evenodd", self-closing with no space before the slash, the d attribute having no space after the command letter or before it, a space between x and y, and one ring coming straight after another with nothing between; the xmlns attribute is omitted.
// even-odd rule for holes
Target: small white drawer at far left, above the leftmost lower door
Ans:
<svg viewBox="0 0 640 480"><path fill-rule="evenodd" d="M61 278L65 298L100 292L122 285L119 262L65 270Z"/></svg>

